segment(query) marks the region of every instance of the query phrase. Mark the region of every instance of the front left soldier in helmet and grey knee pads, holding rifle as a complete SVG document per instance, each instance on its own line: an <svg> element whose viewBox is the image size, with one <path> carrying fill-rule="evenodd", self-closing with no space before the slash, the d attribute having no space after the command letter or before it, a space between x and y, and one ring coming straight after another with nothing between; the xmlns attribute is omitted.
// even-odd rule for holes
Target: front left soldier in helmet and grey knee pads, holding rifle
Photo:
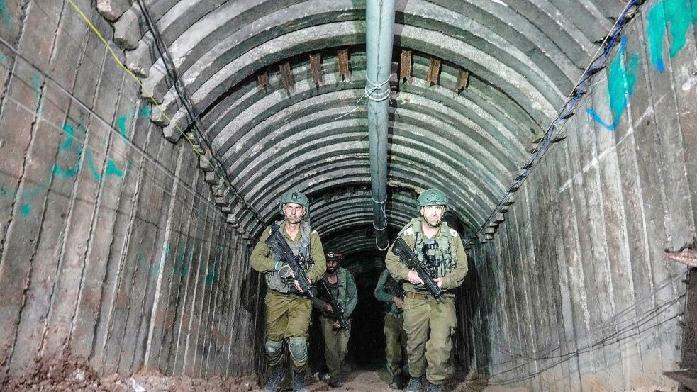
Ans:
<svg viewBox="0 0 697 392"><path fill-rule="evenodd" d="M279 232L296 256L303 254L308 259L307 277L315 282L321 279L326 269L322 242L316 230L308 224L308 198L301 192L291 191L281 196L279 201L284 220L277 222ZM257 242L250 263L252 268L264 274L268 291L266 303L266 342L264 350L271 377L264 386L264 392L276 392L285 377L283 362L286 349L290 354L293 369L293 391L309 392L305 386L307 363L307 337L310 325L312 301L300 289L297 280L282 278L279 270L286 270L279 257L266 245L271 235L269 227Z"/></svg>

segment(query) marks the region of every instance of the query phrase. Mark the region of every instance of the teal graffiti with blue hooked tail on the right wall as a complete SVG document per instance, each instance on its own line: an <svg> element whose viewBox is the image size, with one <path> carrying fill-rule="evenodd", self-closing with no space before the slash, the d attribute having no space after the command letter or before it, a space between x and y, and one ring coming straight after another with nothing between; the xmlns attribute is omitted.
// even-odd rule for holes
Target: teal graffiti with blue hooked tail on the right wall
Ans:
<svg viewBox="0 0 697 392"><path fill-rule="evenodd" d="M614 121L612 123L603 121L595 109L586 109L586 113L589 113L593 120L603 125L603 128L607 130L615 130L615 127L620 123L622 113L625 111L630 97L634 94L634 84L637 82L639 57L637 55L631 55L626 69L623 67L626 44L627 38L623 35L620 51L615 61L610 65L608 71L608 96L610 98L610 110L613 113Z"/></svg>

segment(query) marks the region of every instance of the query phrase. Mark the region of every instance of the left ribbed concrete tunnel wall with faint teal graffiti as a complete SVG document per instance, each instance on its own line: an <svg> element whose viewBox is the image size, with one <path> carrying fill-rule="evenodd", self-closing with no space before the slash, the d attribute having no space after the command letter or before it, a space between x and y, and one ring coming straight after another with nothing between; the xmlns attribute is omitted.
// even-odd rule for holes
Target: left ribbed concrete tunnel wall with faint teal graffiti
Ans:
<svg viewBox="0 0 697 392"><path fill-rule="evenodd" d="M94 5L77 6L111 42ZM0 16L0 380L67 359L103 375L251 374L250 242L192 146L162 137L68 2L0 0Z"/></svg>

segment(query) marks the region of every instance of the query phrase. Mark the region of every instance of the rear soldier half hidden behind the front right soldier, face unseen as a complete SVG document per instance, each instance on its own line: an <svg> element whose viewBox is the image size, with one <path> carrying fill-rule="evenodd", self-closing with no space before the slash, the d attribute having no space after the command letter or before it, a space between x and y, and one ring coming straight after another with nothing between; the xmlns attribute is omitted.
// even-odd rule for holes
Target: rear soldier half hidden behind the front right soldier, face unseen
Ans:
<svg viewBox="0 0 697 392"><path fill-rule="evenodd" d="M385 304L385 354L387 371L391 376L390 389L399 389L408 374L406 332L403 328L404 289L388 270L382 271L375 286L375 298Z"/></svg>

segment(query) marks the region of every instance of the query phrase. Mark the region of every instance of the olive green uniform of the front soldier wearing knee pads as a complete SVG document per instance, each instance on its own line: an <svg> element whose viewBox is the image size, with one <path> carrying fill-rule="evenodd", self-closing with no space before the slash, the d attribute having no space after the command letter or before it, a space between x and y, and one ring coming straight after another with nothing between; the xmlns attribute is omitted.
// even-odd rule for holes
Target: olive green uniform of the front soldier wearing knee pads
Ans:
<svg viewBox="0 0 697 392"><path fill-rule="evenodd" d="M322 242L316 230L308 223L301 223L301 230L296 238L286 233L285 225L281 223L281 234L297 256L303 246L303 236L308 238L308 256L313 265L307 271L310 281L318 281L323 276L326 266ZM269 366L278 366L284 359L284 340L287 340L291 367L296 372L305 371L307 363L307 337L310 326L311 300L294 292L293 284L284 284L278 276L279 260L266 245L271 235L271 228L262 233L257 245L252 250L250 264L256 271L264 273L268 291L264 299L266 304L266 342L264 349Z"/></svg>

